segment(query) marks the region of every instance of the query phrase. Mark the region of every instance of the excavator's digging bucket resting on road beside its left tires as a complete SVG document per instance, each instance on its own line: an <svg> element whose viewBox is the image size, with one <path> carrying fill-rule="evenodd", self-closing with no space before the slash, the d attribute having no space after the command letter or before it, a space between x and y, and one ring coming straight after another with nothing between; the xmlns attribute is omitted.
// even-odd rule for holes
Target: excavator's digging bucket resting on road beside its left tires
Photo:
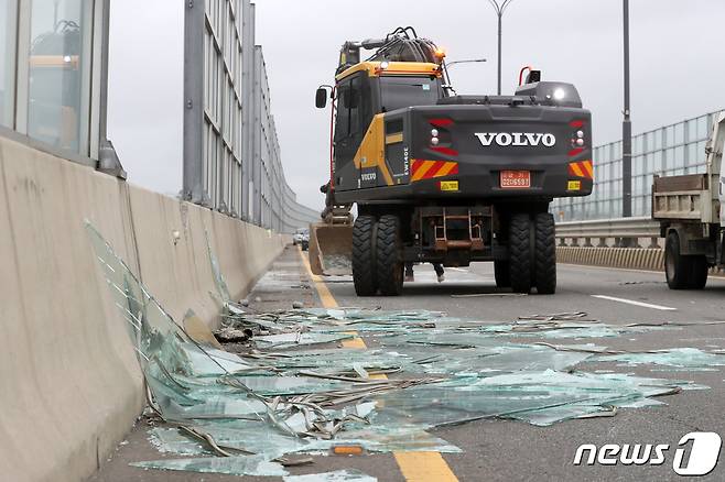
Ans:
<svg viewBox="0 0 725 482"><path fill-rule="evenodd" d="M316 275L353 274L353 226L310 224L310 267Z"/></svg>

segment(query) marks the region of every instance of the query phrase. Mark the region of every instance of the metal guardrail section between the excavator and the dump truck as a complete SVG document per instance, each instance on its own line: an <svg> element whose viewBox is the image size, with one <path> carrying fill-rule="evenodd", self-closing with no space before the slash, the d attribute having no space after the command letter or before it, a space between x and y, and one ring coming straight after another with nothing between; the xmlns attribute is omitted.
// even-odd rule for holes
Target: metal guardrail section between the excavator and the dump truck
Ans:
<svg viewBox="0 0 725 482"><path fill-rule="evenodd" d="M556 238L560 247L588 248L597 240L598 248L641 248L648 240L647 248L661 248L659 221L645 217L558 222Z"/></svg>

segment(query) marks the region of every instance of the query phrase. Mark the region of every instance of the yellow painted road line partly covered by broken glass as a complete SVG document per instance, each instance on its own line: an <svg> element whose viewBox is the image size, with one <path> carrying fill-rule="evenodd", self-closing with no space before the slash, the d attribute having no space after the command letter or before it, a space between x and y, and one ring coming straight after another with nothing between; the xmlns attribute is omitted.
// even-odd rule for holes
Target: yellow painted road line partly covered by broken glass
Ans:
<svg viewBox="0 0 725 482"><path fill-rule="evenodd" d="M315 285L315 289L317 289L323 306L325 308L337 308L339 305L337 304L337 300L335 300L333 294L329 293L324 280L312 273L312 270L310 269L310 260L302 253L301 249L299 249L299 252L300 258L302 258L302 263L307 270L307 275L310 275L310 278ZM350 331L350 333L357 335L357 331ZM360 350L367 349L365 341L360 337L343 341L343 347ZM370 375L370 379L385 380L387 376L385 374ZM396 462L398 462L400 472L408 482L458 481L440 452L393 452L393 456Z"/></svg>

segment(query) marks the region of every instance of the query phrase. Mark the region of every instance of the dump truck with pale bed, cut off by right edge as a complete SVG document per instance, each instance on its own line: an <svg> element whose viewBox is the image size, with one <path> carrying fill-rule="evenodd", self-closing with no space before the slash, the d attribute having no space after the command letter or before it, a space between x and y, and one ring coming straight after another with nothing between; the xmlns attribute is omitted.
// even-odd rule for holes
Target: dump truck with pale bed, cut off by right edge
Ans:
<svg viewBox="0 0 725 482"><path fill-rule="evenodd" d="M704 174L654 176L652 218L664 238L671 289L702 289L711 267L725 265L725 112L715 117L705 145Z"/></svg>

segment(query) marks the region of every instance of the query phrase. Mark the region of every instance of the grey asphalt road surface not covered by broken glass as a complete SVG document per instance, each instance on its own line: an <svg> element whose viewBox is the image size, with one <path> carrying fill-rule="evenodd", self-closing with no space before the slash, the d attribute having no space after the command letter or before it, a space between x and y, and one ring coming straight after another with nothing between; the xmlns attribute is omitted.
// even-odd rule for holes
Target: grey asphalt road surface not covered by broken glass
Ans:
<svg viewBox="0 0 725 482"><path fill-rule="evenodd" d="M725 280L711 278L703 292L669 291L660 273L608 270L573 265L559 266L559 291L553 296L511 296L495 287L493 265L448 269L439 284L430 265L415 269L415 282L405 285L400 297L358 298L346 277L325 280L339 306L382 307L385 309L443 310L451 316L480 322L511 321L520 316L586 311L607 324L678 321L691 324L679 330L660 330L630 337L586 339L612 349L647 350L694 347L725 349L725 325L699 325L725 320ZM320 306L321 298L296 250L288 250L263 278L250 299L259 297L257 309L290 307L293 300ZM324 288L323 288L324 291ZM458 297L459 295L483 295ZM329 303L329 296L326 296ZM375 342L374 340L370 340ZM531 340L530 340L531 341ZM559 341L558 341L559 342ZM583 341L570 341L581 343ZM725 435L725 374L717 369L683 372L645 365L620 368L614 363L587 363L585 370L615 370L642 376L689 380L710 386L660 398L667 406L620 409L614 417L576 419L550 427L534 427L509 420L481 420L437 429L434 434L464 449L459 454L443 454L444 464L461 481L643 481L680 480L672 470L673 452L682 436L692 431ZM128 462L152 460L161 456L147 441L145 421L130 434L127 443L94 481L196 481L238 480L237 478L192 473L143 471ZM670 451L660 465L574 465L576 448L582 443L667 443ZM722 456L725 458L725 456ZM425 464L429 460L421 460ZM314 473L357 468L380 481L405 480L392 454L364 457L320 457L315 464L294 473ZM436 481L431 469L420 481ZM426 470L423 469L423 473ZM689 478L696 479L696 478ZM246 480L273 480L255 479ZM725 462L707 476L696 480L725 480Z"/></svg>

